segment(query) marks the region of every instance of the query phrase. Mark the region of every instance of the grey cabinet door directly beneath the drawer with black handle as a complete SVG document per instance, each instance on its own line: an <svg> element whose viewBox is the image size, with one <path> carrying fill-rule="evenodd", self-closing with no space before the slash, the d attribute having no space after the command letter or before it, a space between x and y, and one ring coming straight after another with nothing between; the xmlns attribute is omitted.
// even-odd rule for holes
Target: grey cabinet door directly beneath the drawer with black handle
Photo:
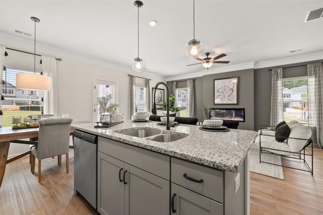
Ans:
<svg viewBox="0 0 323 215"><path fill-rule="evenodd" d="M173 183L171 198L171 214L223 215L223 205L221 203Z"/></svg>

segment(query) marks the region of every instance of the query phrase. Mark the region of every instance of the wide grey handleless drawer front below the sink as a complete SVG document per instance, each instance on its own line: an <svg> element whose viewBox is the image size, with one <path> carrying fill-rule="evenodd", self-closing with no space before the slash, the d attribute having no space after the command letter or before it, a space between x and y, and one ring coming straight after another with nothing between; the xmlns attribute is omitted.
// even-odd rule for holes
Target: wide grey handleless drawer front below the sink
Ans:
<svg viewBox="0 0 323 215"><path fill-rule="evenodd" d="M170 180L170 157L115 140L98 137L98 151Z"/></svg>

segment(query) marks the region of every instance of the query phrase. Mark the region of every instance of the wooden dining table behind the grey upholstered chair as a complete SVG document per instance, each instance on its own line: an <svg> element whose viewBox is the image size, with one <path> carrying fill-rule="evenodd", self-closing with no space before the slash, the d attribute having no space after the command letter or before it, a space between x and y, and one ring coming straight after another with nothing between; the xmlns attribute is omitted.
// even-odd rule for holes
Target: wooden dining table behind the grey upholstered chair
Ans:
<svg viewBox="0 0 323 215"><path fill-rule="evenodd" d="M11 127L0 127L0 188L4 179L6 165L17 160L23 156L30 154L30 150L21 153L11 159L8 159L8 152L10 143L23 143L36 145L37 142L25 141L22 139L29 139L38 137L38 128L25 128L25 129L12 129ZM73 134L73 128L71 127L70 133Z"/></svg>

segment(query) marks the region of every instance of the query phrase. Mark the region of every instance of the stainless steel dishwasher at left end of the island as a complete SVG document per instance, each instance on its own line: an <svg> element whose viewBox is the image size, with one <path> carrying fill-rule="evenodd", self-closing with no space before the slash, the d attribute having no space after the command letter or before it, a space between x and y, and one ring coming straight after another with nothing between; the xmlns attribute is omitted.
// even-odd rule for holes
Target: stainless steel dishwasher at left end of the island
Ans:
<svg viewBox="0 0 323 215"><path fill-rule="evenodd" d="M75 130L74 138L74 194L81 194L96 208L97 136Z"/></svg>

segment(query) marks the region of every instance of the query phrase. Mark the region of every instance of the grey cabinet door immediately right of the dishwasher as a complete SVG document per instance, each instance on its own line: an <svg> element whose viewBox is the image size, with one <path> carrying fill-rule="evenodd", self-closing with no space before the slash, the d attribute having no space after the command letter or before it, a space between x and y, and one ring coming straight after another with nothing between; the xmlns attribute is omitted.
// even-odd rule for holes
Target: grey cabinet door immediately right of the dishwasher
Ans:
<svg viewBox="0 0 323 215"><path fill-rule="evenodd" d="M124 162L97 152L97 211L100 214L124 214ZM120 175L120 178L119 178Z"/></svg>

